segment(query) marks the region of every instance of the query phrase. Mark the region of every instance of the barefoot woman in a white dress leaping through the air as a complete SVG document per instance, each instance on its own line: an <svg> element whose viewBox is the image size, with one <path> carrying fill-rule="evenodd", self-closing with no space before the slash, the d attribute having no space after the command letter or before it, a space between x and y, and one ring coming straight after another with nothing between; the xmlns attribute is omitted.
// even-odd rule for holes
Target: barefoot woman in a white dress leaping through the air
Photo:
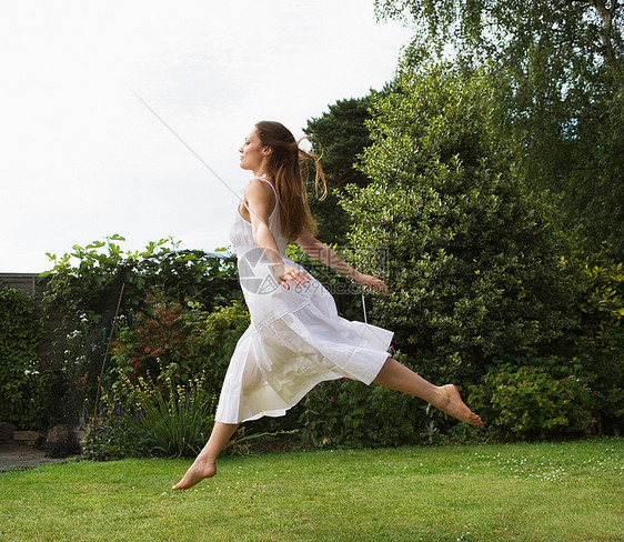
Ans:
<svg viewBox="0 0 624 542"><path fill-rule="evenodd" d="M239 150L241 168L253 172L243 190L231 240L236 248L241 288L251 325L232 355L212 434L174 490L217 473L217 456L243 421L283 415L315 384L344 377L410 393L471 425L481 418L452 384L436 387L388 354L392 332L338 315L330 293L285 255L294 240L308 254L385 292L385 283L355 271L313 237L314 220L299 161L314 158L299 149L279 122L255 124ZM316 162L316 188L324 188Z"/></svg>

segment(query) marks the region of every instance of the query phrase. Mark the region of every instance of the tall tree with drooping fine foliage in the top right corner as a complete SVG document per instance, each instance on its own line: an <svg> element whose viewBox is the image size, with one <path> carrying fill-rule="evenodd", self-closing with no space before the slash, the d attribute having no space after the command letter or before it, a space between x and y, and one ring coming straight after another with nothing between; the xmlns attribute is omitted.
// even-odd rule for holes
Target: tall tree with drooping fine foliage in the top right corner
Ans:
<svg viewBox="0 0 624 542"><path fill-rule="evenodd" d="M561 195L592 250L624 258L624 41L617 0L376 0L411 21L439 54L495 76L500 130L519 141L521 172ZM419 43L419 42L417 42ZM415 47L417 48L417 46ZM413 58L419 58L414 54Z"/></svg>

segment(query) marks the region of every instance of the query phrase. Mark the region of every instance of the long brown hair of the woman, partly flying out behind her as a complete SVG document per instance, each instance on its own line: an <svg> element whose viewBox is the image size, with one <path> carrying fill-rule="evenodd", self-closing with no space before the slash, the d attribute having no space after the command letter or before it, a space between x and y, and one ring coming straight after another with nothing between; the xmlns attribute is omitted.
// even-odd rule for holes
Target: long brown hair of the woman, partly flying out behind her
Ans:
<svg viewBox="0 0 624 542"><path fill-rule="evenodd" d="M275 183L275 191L280 200L282 233L291 241L302 233L314 234L316 221L308 204L308 191L301 174L300 162L309 160L314 162L314 190L316 195L322 192L321 199L323 199L328 194L328 187L319 158L300 149L299 141L280 122L260 121L255 124L255 133L260 143L273 151L269 161L268 174Z"/></svg>

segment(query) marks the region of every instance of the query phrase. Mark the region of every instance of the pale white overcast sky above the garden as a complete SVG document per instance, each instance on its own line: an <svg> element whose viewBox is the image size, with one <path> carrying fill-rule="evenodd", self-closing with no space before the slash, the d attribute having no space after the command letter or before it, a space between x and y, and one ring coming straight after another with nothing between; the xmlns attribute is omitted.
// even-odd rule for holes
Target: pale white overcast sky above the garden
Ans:
<svg viewBox="0 0 624 542"><path fill-rule="evenodd" d="M373 0L0 0L0 272L115 233L229 245L253 124L303 136L409 38Z"/></svg>

